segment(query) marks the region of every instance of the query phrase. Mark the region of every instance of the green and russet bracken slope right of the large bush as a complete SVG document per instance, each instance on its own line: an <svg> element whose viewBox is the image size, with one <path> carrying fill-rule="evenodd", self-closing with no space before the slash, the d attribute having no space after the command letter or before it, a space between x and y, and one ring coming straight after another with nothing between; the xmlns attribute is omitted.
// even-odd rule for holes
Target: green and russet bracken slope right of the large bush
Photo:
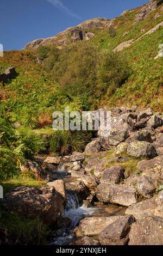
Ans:
<svg viewBox="0 0 163 256"><path fill-rule="evenodd" d="M162 16L154 19L156 14L161 14L162 6L163 4L145 20L135 24L135 15L140 8L132 10L115 20L115 25L118 26L115 38L110 38L107 31L97 31L95 38L90 42L97 45L101 50L112 51L124 41L130 39L135 41L163 20ZM127 34L124 35L124 33ZM155 111L163 110L163 59L154 60L159 51L159 44L163 43L162 40L163 27L160 27L153 34L146 35L123 49L133 70L133 75L121 89L116 90L114 95L111 97L106 95L100 106L137 105L139 107L151 106Z"/></svg>

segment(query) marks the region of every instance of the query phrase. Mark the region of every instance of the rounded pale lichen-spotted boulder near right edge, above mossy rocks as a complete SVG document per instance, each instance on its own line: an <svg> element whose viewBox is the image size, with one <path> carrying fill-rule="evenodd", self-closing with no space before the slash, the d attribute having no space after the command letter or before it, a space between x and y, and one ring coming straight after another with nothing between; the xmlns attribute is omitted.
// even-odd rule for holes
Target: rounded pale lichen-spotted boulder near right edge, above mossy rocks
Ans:
<svg viewBox="0 0 163 256"><path fill-rule="evenodd" d="M147 157L148 159L153 159L157 155L152 143L145 141L129 143L127 154L134 157Z"/></svg>

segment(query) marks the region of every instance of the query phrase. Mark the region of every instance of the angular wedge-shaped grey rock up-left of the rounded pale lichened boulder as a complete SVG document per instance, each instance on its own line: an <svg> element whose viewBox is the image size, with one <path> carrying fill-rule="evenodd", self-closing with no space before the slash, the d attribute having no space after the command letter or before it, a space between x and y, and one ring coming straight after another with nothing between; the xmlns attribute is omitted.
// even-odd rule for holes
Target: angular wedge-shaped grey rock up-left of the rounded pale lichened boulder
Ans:
<svg viewBox="0 0 163 256"><path fill-rule="evenodd" d="M117 147L118 144L124 142L128 138L127 131L111 132L108 137L101 137L101 145L105 150Z"/></svg>

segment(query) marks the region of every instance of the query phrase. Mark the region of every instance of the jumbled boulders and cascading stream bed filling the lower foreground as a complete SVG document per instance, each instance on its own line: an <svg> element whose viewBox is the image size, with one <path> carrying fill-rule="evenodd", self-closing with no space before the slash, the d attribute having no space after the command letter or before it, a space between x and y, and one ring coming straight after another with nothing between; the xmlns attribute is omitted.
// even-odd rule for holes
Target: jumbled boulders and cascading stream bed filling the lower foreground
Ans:
<svg viewBox="0 0 163 256"><path fill-rule="evenodd" d="M27 220L39 216L51 228L51 245L163 243L163 115L133 107L113 109L111 117L111 134L101 131L83 153L26 160L21 171L45 185L20 185L2 200ZM15 243L9 230L1 229L1 243Z"/></svg>

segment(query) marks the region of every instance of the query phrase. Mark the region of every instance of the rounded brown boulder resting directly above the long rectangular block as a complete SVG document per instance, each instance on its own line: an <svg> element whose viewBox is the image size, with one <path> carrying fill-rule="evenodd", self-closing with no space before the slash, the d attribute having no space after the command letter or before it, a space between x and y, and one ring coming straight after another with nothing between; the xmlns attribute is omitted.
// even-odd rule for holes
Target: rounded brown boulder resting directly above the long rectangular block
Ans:
<svg viewBox="0 0 163 256"><path fill-rule="evenodd" d="M112 185L119 184L121 179L124 179L124 169L121 166L114 166L104 169L102 174L101 183Z"/></svg>

